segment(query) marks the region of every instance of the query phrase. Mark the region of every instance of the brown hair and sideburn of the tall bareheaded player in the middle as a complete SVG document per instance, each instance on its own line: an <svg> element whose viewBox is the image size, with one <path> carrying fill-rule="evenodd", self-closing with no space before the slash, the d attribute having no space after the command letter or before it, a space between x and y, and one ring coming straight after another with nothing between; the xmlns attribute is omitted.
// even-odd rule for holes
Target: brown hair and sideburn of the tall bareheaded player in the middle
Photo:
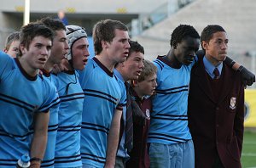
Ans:
<svg viewBox="0 0 256 168"><path fill-rule="evenodd" d="M113 41L113 37L115 36L114 31L116 29L128 31L127 26L119 20L101 20L94 25L92 36L96 54L102 52L102 41Z"/></svg>

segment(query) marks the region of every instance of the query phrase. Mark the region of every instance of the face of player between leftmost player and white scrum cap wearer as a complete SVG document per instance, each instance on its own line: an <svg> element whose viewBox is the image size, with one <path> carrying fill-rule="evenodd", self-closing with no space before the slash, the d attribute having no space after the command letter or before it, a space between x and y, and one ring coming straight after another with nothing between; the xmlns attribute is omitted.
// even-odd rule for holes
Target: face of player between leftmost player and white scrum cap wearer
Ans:
<svg viewBox="0 0 256 168"><path fill-rule="evenodd" d="M68 48L66 31L55 31L49 61L53 64L60 64L61 60L65 59Z"/></svg>

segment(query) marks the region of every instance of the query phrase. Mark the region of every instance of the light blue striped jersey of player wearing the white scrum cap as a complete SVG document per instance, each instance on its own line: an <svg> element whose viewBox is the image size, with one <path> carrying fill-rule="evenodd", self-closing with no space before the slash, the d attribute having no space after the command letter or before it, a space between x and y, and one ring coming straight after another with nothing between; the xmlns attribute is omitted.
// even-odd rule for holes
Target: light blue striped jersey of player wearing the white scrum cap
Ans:
<svg viewBox="0 0 256 168"><path fill-rule="evenodd" d="M80 155L81 122L84 92L76 71L53 75L61 104L55 146L55 167L82 166Z"/></svg>

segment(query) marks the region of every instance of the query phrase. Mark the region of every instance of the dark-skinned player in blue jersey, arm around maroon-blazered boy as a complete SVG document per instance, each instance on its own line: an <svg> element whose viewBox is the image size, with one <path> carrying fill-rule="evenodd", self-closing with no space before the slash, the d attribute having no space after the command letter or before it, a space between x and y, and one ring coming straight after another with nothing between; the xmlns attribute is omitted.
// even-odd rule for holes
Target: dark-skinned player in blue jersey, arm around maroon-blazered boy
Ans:
<svg viewBox="0 0 256 168"><path fill-rule="evenodd" d="M158 87L153 98L148 133L150 167L195 165L187 109L190 71L198 59L195 52L200 45L199 39L200 36L192 26L179 25L172 32L170 51L154 61L158 67ZM255 81L252 73L248 75L245 71L242 75L246 76L247 81Z"/></svg>

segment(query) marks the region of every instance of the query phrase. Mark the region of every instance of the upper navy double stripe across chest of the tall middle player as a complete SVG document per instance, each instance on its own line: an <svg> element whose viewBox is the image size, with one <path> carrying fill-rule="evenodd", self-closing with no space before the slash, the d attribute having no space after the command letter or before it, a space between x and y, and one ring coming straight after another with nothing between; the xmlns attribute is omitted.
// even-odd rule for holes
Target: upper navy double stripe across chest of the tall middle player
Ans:
<svg viewBox="0 0 256 168"><path fill-rule="evenodd" d="M114 98L110 94L107 94L105 92L96 91L96 90L91 90L91 89L83 89L83 90L84 90L84 95L97 97L97 98L103 98L113 104L118 104L118 99Z"/></svg>

